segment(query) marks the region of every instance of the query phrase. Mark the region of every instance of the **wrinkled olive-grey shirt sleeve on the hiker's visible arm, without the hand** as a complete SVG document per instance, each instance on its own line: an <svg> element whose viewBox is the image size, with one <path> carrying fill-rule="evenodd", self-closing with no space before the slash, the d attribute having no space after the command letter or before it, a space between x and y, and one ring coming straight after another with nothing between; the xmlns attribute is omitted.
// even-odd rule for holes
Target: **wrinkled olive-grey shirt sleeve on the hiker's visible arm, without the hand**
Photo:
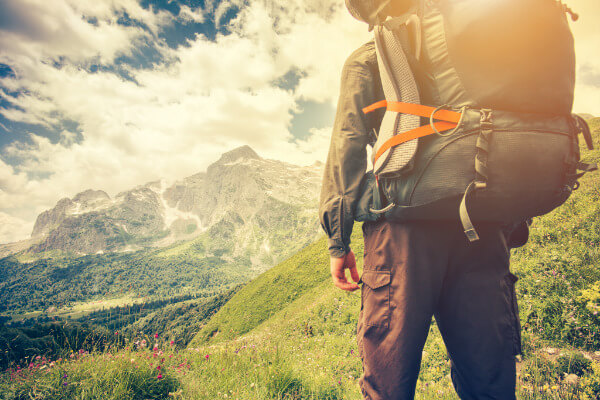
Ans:
<svg viewBox="0 0 600 400"><path fill-rule="evenodd" d="M354 55L354 54L353 54ZM353 56L342 69L340 95L325 163L319 217L329 237L329 253L343 257L350 250L354 209L367 167L369 120L362 108L374 99L373 77L364 62Z"/></svg>

